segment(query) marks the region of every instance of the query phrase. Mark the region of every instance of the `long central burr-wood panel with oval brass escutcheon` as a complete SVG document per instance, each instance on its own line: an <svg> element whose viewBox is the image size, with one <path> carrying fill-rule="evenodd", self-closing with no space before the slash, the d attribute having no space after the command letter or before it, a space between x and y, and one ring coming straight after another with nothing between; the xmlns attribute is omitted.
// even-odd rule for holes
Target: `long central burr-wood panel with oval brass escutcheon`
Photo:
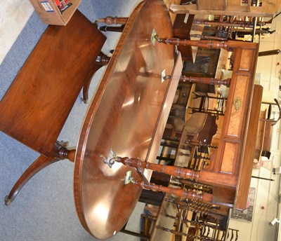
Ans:
<svg viewBox="0 0 281 241"><path fill-rule="evenodd" d="M230 123L228 125L228 135L232 135L235 137L240 137L242 121L244 118L244 105L245 105L245 93L247 92L247 83L249 81L249 76L237 76L236 80L236 89L234 93L232 106L231 106L231 114L230 114ZM238 98L241 99L240 109L235 109L234 102L238 102ZM229 106L229 105L228 105Z"/></svg>

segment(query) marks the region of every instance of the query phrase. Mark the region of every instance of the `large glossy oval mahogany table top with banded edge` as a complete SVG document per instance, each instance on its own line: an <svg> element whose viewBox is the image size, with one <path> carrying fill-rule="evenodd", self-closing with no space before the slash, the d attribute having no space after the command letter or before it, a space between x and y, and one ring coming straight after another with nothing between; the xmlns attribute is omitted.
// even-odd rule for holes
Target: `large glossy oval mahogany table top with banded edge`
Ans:
<svg viewBox="0 0 281 241"><path fill-rule="evenodd" d="M74 200L81 224L98 239L122 229L141 195L124 184L126 172L141 180L135 168L104 163L117 156L156 160L181 66L174 46L153 43L153 33L172 36L169 11L161 0L143 1L131 14L107 65L81 130L74 165ZM180 55L180 54L179 54ZM163 81L162 74L173 78Z"/></svg>

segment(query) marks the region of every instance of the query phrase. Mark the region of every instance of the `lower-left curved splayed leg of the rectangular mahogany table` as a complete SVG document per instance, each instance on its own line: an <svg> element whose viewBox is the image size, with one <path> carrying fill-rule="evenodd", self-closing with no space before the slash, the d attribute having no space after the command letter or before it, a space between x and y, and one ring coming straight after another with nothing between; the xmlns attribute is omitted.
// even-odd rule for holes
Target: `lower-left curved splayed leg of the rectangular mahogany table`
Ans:
<svg viewBox="0 0 281 241"><path fill-rule="evenodd" d="M35 174L37 174L37 172L42 170L44 167L46 167L52 163L55 163L58 160L60 160L60 159L54 158L53 156L52 157L46 157L43 155L39 156L39 158L37 158L37 160L35 160L34 163L32 163L32 165L30 165L30 167L28 167L27 170L25 170L25 172L22 174L20 179L18 179L18 181L15 183L15 185L11 189L9 195L6 195L5 205L7 205L7 206L11 205L11 202L13 202L13 200L15 199L15 196L18 194L18 192L20 191L22 186L25 186L27 181L29 181Z"/></svg>

